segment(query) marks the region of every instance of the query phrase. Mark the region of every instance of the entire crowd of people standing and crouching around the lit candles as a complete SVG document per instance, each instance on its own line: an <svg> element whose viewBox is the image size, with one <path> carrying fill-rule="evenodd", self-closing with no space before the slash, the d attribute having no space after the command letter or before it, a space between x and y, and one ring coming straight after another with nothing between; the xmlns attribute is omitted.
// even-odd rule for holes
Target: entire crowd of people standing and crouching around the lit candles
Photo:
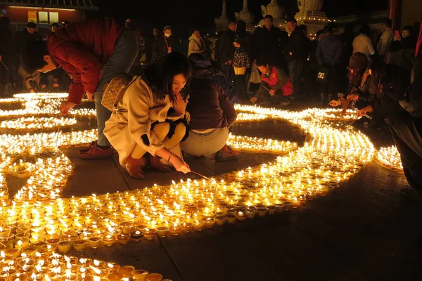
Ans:
<svg viewBox="0 0 422 281"><path fill-rule="evenodd" d="M63 115L84 95L93 100L98 140L79 156L108 157L114 148L134 178L144 178L146 166L158 171L174 166L187 173L186 155L236 158L226 144L236 120L234 103L285 108L293 100L319 94L324 105L353 105L374 126L390 126L404 174L422 192L419 25L404 27L399 34L385 19L374 42L368 25L358 34L347 25L339 34L329 22L314 41L294 18L287 20L287 28L290 36L274 27L271 15L253 34L243 20L230 22L214 50L193 30L186 56L170 26L161 34L154 29L152 39L146 39L130 19L125 27L113 19L84 20L53 26L45 42L30 22L18 40L18 69L32 91L56 91L67 77ZM15 54L12 46L3 45L0 58L12 70ZM102 104L104 89L122 72L134 78L110 111ZM256 74L260 88L250 95L246 77Z"/></svg>

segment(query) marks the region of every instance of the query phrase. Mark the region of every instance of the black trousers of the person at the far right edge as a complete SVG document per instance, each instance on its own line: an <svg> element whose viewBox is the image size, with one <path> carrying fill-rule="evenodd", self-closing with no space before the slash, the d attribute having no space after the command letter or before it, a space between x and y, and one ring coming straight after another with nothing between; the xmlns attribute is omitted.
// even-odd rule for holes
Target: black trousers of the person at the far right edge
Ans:
<svg viewBox="0 0 422 281"><path fill-rule="evenodd" d="M399 150L404 176L422 194L422 119L402 112L388 117L390 130Z"/></svg>

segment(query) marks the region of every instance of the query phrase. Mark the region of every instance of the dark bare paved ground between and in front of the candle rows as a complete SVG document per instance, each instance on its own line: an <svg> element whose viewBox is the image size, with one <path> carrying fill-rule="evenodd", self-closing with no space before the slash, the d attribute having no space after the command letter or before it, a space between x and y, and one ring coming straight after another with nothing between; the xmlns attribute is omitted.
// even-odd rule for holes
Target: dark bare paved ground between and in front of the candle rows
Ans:
<svg viewBox="0 0 422 281"><path fill-rule="evenodd" d="M376 145L392 143L388 131L362 130ZM300 145L304 141L302 132L287 122L238 124L234 133ZM134 190L186 177L147 171L145 181L135 181L117 157L84 162L76 149L65 153L76 167L64 197ZM224 164L210 159L188 159L188 164L215 176L271 159L274 155L244 153ZM10 184L17 188L16 181ZM174 281L421 280L422 204L413 194L403 195L402 190L409 190L404 185L404 176L371 163L333 193L279 216L82 254L145 268Z"/></svg>

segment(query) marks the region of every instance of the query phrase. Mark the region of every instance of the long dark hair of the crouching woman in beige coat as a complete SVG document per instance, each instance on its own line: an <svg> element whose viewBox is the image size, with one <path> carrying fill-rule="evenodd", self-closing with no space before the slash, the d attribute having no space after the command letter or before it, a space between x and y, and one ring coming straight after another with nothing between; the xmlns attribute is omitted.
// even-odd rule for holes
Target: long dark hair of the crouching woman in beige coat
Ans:
<svg viewBox="0 0 422 281"><path fill-rule="evenodd" d="M163 100L169 95L174 101L173 78L184 74L186 80L191 77L192 66L188 58L182 53L169 53L148 65L142 72L142 79L151 87L156 98Z"/></svg>

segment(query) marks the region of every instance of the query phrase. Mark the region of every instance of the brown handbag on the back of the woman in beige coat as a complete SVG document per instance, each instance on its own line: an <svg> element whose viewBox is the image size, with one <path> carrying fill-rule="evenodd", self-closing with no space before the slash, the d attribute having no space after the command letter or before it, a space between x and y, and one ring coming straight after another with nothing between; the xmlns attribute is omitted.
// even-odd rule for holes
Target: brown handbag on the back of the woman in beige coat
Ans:
<svg viewBox="0 0 422 281"><path fill-rule="evenodd" d="M117 103L122 100L124 92L136 78L137 76L132 79L129 74L122 73L111 79L108 84L104 85L101 104L110 111L115 110Z"/></svg>

